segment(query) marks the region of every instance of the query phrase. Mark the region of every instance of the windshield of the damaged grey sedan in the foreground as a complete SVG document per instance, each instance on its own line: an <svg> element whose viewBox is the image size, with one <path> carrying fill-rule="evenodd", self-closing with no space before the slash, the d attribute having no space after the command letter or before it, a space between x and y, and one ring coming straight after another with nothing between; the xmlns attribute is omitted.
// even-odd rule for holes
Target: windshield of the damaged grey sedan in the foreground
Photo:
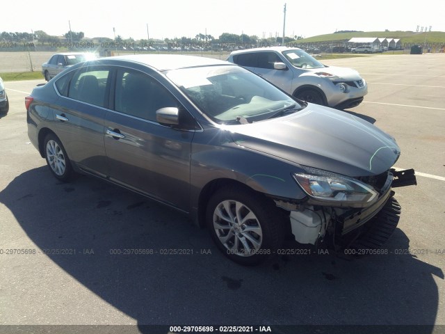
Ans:
<svg viewBox="0 0 445 334"><path fill-rule="evenodd" d="M256 74L232 65L190 67L167 73L196 106L220 124L257 122L300 104Z"/></svg>

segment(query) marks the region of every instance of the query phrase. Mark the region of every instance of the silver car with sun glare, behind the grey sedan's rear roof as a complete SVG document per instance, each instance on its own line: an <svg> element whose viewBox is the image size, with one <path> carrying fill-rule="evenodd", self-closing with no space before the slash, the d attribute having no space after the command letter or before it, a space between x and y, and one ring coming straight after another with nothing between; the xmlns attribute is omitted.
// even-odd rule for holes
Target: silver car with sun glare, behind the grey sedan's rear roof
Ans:
<svg viewBox="0 0 445 334"><path fill-rule="evenodd" d="M96 58L95 54L85 52L65 52L62 54L54 54L49 58L47 63L42 64L42 74L46 81L56 77L57 74L65 70L65 68L83 61Z"/></svg>

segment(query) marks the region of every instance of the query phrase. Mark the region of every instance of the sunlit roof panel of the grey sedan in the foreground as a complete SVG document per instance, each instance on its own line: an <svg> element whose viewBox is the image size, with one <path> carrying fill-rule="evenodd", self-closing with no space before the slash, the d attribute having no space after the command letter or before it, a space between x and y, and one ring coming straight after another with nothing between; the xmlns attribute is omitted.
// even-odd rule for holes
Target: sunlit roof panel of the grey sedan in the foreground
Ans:
<svg viewBox="0 0 445 334"><path fill-rule="evenodd" d="M141 63L156 68L156 70L176 70L185 67L199 67L210 65L234 65L227 61L220 61L219 59L200 57L200 56L185 56L179 54L136 54L129 56L114 56L108 58L101 58L99 61L131 61L134 63Z"/></svg>

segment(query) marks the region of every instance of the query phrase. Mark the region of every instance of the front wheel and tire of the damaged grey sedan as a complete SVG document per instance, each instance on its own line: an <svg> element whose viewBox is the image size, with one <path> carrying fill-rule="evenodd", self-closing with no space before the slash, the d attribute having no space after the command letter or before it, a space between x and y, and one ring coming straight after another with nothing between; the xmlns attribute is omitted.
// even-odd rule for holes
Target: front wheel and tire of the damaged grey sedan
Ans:
<svg viewBox="0 0 445 334"><path fill-rule="evenodd" d="M273 202L238 186L216 191L206 213L207 228L216 246L230 260L245 266L264 262L282 246L283 218Z"/></svg>

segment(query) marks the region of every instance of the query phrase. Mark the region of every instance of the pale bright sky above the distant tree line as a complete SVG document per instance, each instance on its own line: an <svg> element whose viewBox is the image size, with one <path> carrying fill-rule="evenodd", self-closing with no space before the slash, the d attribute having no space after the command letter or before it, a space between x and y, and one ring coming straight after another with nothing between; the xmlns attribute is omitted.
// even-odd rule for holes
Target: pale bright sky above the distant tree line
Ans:
<svg viewBox="0 0 445 334"><path fill-rule="evenodd" d="M42 30L63 35L83 31L86 37L150 38L191 37L206 33L282 35L287 3L286 36L310 37L336 30L416 31L432 26L445 31L443 0L156 0L156 1L49 1L33 6L17 0L1 5L0 32Z"/></svg>

